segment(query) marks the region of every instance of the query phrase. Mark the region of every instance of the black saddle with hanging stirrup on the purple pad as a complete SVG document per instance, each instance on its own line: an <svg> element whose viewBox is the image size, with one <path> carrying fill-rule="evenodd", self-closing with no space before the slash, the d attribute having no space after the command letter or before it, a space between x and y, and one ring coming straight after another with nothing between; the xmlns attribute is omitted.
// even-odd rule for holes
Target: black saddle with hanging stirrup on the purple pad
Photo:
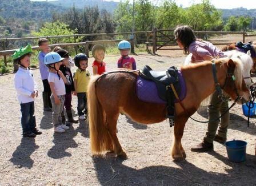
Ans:
<svg viewBox="0 0 256 186"><path fill-rule="evenodd" d="M179 86L178 69L170 67L167 71L153 71L149 66L145 66L139 72L139 76L152 80L157 85L159 98L167 103L166 118L169 118L170 127L174 126L175 95L171 84L173 84L175 91L179 94L181 87Z"/></svg>

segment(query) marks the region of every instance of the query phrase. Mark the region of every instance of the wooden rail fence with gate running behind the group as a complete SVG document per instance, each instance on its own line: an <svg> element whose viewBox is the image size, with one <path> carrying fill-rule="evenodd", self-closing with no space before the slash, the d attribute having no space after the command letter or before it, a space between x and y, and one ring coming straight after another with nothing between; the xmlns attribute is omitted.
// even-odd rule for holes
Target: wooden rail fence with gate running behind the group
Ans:
<svg viewBox="0 0 256 186"><path fill-rule="evenodd" d="M168 34L166 34L168 33ZM2 43L2 48L3 50L0 51L0 56L3 56L5 66L7 66L7 60L6 56L11 55L14 53L15 49L7 50L6 43L9 41L29 41L29 40L37 40L39 38L47 38L47 39L62 39L62 38L74 38L74 43L57 43L50 45L50 47L55 47L55 46L61 46L61 47L74 47L75 52L77 53L77 47L78 46L83 46L85 48L85 54L89 56L89 45L94 45L97 43L102 43L102 44L109 44L109 43L116 43L119 42L123 39L111 39L111 40L100 40L100 41L85 41L85 42L77 42L78 37L107 37L107 36L115 36L115 35L128 35L132 34L131 32L127 33L99 33L99 34L74 34L74 35L54 35L54 36L45 36L45 37L26 37L26 38L0 38L0 43ZM143 39L138 38L137 36L139 34L145 34ZM245 32L231 32L231 31L195 31L195 34L201 34L201 35L206 35L207 34L239 34L241 35L241 40L245 42L245 37L254 37L256 34L247 34ZM134 51L134 46L137 44L137 41L140 41L139 43L145 43L146 44L146 49L149 51L149 46L151 45L153 47L152 51L153 54L157 50L179 50L182 48L168 48L166 46L177 46L177 43L174 41L174 34L173 34L173 29L153 29L153 31L136 31L134 32L134 37L131 38L126 38L127 41L131 42L131 52ZM229 43L220 43L220 42L215 42L213 43L214 45L227 45ZM33 46L33 50L38 50L38 46Z"/></svg>

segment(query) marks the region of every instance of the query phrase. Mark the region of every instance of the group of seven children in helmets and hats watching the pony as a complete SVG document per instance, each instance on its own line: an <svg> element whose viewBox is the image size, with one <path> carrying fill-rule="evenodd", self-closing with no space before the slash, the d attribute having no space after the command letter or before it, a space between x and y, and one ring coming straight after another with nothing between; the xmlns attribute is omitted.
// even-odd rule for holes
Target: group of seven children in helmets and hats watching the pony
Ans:
<svg viewBox="0 0 256 186"><path fill-rule="evenodd" d="M90 72L87 70L88 57L85 54L75 55L74 62L69 52L61 47L55 47L53 52L49 47L49 41L41 38L38 41L39 70L43 82L43 111L52 112L54 132L65 132L69 130L71 123L78 123L74 120L71 110L72 95L77 96L77 112L80 120L85 120L87 115L87 85L90 80ZM118 59L118 68L128 68L136 70L136 62L129 56L130 43L121 41L118 49L121 58ZM94 45L92 53L94 56L93 75L101 75L106 72L105 47ZM34 98L38 96L37 83L29 68L32 48L27 45L21 47L12 55L15 63L19 64L19 69L15 74L14 84L17 90L18 101L21 104L21 126L24 137L35 137L42 134L38 131L34 116ZM77 66L74 76L71 67ZM64 109L65 108L65 109ZM66 110L67 120L64 110Z"/></svg>

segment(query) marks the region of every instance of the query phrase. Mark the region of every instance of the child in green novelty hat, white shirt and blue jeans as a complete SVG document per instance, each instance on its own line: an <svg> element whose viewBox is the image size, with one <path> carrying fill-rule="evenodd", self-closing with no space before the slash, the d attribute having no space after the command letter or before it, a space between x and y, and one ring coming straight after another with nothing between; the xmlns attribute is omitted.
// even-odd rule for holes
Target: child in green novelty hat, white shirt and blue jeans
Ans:
<svg viewBox="0 0 256 186"><path fill-rule="evenodd" d="M38 131L35 124L34 116L34 98L38 96L37 83L33 78L33 74L29 69L30 55L32 48L27 45L20 48L12 55L15 63L18 62L19 69L15 74L14 84L17 90L18 100L21 104L21 126L24 137L34 138L36 135L42 134Z"/></svg>

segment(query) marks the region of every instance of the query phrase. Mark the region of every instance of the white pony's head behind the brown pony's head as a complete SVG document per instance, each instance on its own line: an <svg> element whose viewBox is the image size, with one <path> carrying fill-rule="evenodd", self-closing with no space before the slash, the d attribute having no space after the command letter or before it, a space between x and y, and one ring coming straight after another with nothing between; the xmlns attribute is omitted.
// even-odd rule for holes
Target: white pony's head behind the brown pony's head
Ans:
<svg viewBox="0 0 256 186"><path fill-rule="evenodd" d="M253 59L251 58L251 52L247 53L239 52L236 50L224 52L228 58L241 63L243 66L243 79L245 80L246 86L250 87L253 81L251 80L250 70L253 66Z"/></svg>

